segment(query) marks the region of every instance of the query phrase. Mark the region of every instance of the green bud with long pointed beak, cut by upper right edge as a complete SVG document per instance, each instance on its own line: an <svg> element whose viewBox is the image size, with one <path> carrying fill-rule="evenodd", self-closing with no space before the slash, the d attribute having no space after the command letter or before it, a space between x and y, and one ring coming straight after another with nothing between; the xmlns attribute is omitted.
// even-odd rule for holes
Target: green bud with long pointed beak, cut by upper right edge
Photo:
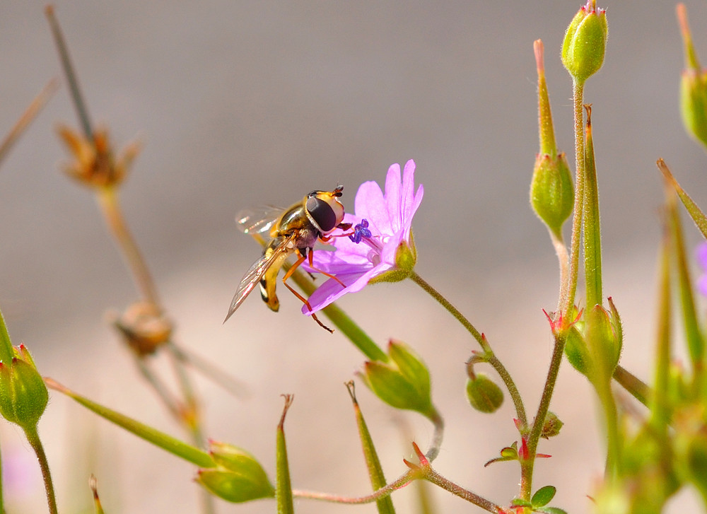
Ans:
<svg viewBox="0 0 707 514"><path fill-rule="evenodd" d="M707 146L707 71L700 68L684 4L677 6L677 18L685 52L685 69L680 78L680 114L687 133Z"/></svg>

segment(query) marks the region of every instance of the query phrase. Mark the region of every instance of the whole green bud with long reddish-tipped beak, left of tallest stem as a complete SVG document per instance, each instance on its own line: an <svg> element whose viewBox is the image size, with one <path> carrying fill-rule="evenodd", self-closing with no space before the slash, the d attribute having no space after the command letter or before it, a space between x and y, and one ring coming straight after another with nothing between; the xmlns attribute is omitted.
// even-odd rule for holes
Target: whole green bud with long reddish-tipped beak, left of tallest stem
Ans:
<svg viewBox="0 0 707 514"><path fill-rule="evenodd" d="M535 214L561 239L562 224L572 214L574 187L565 154L558 153L555 145L542 41L535 41L533 47L537 64L540 151L535 157L530 183L530 204Z"/></svg>

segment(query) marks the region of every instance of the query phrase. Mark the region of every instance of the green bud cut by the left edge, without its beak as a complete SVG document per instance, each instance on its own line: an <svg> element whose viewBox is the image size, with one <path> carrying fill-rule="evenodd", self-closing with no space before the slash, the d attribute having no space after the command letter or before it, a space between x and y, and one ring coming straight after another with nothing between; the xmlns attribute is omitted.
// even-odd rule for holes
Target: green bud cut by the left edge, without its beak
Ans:
<svg viewBox="0 0 707 514"><path fill-rule="evenodd" d="M0 363L0 414L25 430L35 429L49 394L28 349L13 349L10 363Z"/></svg>

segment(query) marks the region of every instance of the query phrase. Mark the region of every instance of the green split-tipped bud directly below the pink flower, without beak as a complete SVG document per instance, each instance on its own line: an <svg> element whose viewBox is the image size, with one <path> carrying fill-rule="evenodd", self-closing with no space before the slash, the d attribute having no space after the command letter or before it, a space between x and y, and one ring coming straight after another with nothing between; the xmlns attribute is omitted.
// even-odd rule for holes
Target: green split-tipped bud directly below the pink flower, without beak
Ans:
<svg viewBox="0 0 707 514"><path fill-rule="evenodd" d="M388 362L373 361L364 365L362 378L383 402L396 409L418 411L433 417L430 373L412 349L402 341L388 344Z"/></svg>

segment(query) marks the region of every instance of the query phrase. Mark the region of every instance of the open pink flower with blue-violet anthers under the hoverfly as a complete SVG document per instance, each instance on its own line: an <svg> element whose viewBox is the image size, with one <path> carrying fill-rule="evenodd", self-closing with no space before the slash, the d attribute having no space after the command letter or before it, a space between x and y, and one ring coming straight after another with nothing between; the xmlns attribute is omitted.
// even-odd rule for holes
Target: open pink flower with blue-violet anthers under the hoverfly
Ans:
<svg viewBox="0 0 707 514"><path fill-rule="evenodd" d="M303 305L303 313L316 312L346 293L361 291L377 277L379 281L396 281L409 275L415 256L412 217L424 193L422 185L417 191L414 186L415 163L409 160L402 180L400 165L390 166L385 177L385 194L373 181L364 182L358 188L354 202L356 214L344 216L345 223L356 226L354 234L350 238L334 238L334 252L317 251L313 255L315 269L311 271L326 271L344 286L337 280L327 280L309 298L312 311ZM403 276L396 274L399 271Z"/></svg>

